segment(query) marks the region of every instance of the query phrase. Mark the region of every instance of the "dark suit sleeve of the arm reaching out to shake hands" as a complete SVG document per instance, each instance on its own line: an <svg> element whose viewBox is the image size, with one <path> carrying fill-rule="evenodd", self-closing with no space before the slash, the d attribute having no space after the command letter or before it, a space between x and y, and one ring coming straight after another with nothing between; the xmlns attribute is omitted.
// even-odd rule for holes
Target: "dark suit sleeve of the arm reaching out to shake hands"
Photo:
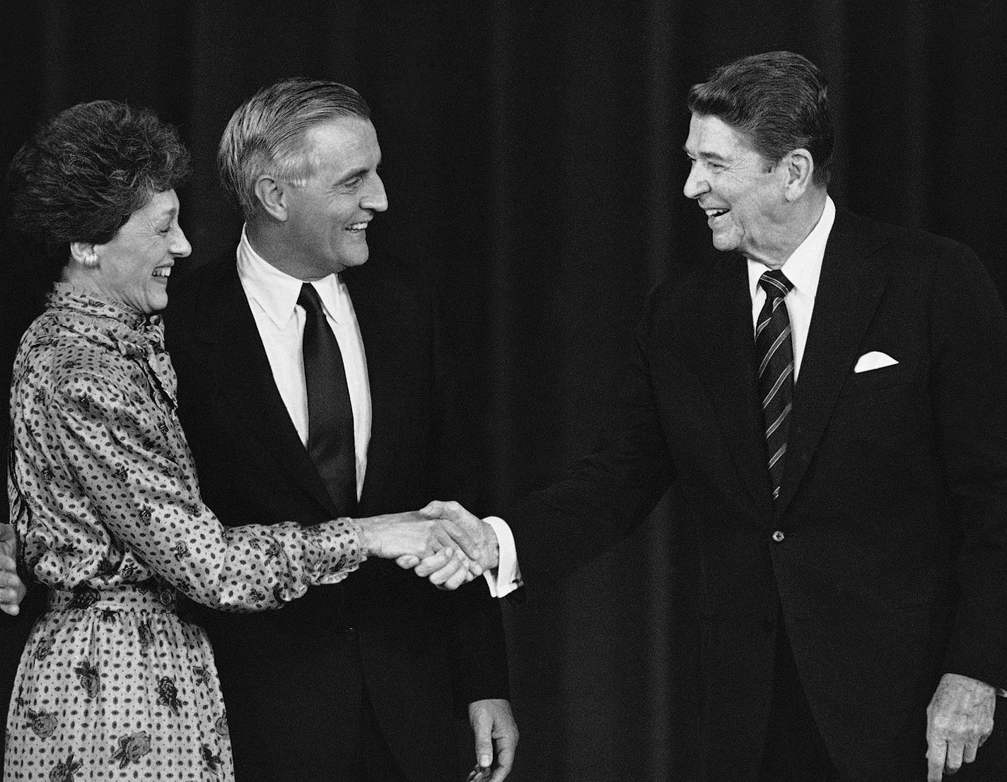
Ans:
<svg viewBox="0 0 1007 782"><path fill-rule="evenodd" d="M674 479L649 359L657 338L655 302L663 290L659 286L648 297L611 424L597 450L503 514L526 585L554 581L621 540Z"/></svg>

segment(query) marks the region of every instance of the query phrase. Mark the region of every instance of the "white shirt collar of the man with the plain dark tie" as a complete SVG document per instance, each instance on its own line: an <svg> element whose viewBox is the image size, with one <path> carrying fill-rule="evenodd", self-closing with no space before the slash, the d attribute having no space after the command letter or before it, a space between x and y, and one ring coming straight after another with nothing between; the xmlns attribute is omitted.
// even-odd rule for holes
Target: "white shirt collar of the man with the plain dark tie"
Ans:
<svg viewBox="0 0 1007 782"><path fill-rule="evenodd" d="M281 272L260 256L249 242L245 226L238 244L238 276L247 294L262 307L278 329L284 329L294 315L303 282ZM349 293L338 275L330 274L311 283L322 307L336 323L349 321Z"/></svg>

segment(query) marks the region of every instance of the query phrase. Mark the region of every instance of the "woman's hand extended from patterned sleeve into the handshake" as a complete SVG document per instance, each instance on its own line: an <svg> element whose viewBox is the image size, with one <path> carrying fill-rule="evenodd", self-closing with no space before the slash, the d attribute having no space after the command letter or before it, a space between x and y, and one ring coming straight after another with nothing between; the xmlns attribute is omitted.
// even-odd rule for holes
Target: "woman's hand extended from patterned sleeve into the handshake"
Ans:
<svg viewBox="0 0 1007 782"><path fill-rule="evenodd" d="M418 562L442 550L450 558L459 545L476 557L480 554L467 532L452 520L430 513L389 513L354 518L353 522L361 530L361 545L368 557L415 558Z"/></svg>

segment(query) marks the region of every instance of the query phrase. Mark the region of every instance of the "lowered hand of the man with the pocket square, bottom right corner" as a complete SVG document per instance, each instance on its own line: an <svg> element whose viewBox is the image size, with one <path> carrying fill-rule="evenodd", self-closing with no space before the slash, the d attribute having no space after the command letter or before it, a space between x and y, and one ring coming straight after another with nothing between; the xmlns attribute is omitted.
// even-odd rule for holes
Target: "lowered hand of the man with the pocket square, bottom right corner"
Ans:
<svg viewBox="0 0 1007 782"><path fill-rule="evenodd" d="M996 690L958 673L945 673L926 708L927 782L941 782L972 763L993 732Z"/></svg>

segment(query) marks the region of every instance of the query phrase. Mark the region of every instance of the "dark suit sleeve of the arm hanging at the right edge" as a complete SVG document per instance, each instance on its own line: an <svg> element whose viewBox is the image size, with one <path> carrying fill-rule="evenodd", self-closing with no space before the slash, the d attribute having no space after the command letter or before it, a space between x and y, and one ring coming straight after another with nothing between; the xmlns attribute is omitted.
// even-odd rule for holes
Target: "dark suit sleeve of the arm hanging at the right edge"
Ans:
<svg viewBox="0 0 1007 782"><path fill-rule="evenodd" d="M961 524L960 597L946 670L1007 686L1007 316L964 248L930 306L932 408Z"/></svg>

